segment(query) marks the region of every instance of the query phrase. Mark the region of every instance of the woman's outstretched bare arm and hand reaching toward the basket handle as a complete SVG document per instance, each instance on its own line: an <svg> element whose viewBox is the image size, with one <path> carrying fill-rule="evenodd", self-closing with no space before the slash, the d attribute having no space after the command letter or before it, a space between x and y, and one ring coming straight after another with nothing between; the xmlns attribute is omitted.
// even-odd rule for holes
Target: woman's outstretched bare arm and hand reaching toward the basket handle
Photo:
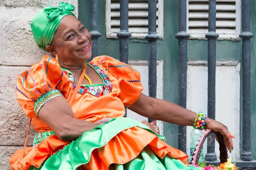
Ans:
<svg viewBox="0 0 256 170"><path fill-rule="evenodd" d="M192 126L195 121L196 113L180 107L172 102L155 99L141 94L139 99L129 107L142 116L162 120L176 125ZM227 126L213 119L205 119L206 129L220 132L224 136L224 142L228 150L233 148L232 138L228 135Z"/></svg>

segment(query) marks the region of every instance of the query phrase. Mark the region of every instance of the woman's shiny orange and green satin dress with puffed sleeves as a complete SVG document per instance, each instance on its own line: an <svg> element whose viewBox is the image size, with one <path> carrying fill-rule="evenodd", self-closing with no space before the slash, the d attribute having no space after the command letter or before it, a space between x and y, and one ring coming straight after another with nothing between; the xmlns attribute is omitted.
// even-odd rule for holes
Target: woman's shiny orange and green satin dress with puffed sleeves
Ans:
<svg viewBox="0 0 256 170"><path fill-rule="evenodd" d="M127 164L129 168L139 166L140 156L148 160L147 156L144 158L145 154L152 160L160 160L159 166L164 165L164 160L171 160L179 164L177 167L186 167L188 156L185 153L166 144L163 136L142 123L123 118L125 107L132 105L143 90L139 72L108 56L96 57L87 66L99 74L102 84L81 85L70 106L75 118L98 126L73 142L58 139L51 127L38 117L38 111L56 96L68 99L78 83L76 77L49 55L20 74L17 100L26 115L32 118L37 133L33 147L27 147L24 153L17 150L11 156L11 169L105 170L117 169L119 165L128 169L124 168ZM154 167L152 162L150 167ZM146 167L145 164L143 166ZM157 169L158 163L155 166Z"/></svg>

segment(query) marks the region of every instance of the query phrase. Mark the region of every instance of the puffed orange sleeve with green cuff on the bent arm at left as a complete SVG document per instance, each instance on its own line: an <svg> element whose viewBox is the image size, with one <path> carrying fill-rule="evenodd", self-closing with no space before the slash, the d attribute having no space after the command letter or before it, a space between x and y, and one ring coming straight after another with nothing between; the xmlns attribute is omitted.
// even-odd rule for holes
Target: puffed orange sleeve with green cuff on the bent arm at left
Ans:
<svg viewBox="0 0 256 170"><path fill-rule="evenodd" d="M29 118L38 116L40 108L56 96L67 96L69 78L58 61L46 55L17 79L17 100Z"/></svg>

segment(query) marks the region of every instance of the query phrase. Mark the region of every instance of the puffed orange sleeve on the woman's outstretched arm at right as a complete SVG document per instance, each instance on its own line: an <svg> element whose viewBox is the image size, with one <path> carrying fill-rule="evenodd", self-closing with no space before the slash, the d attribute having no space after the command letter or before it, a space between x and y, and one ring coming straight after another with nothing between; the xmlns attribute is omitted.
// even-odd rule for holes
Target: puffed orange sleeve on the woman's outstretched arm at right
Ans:
<svg viewBox="0 0 256 170"><path fill-rule="evenodd" d="M143 85L140 82L140 73L136 69L108 56L95 57L92 62L99 64L118 80L120 88L118 97L122 100L124 106L129 106L136 102L143 90Z"/></svg>

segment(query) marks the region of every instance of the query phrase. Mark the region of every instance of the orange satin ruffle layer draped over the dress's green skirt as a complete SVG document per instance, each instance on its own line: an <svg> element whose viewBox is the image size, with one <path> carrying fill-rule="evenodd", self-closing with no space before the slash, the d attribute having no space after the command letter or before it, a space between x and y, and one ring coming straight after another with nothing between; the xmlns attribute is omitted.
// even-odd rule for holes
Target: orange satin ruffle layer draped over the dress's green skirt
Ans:
<svg viewBox="0 0 256 170"><path fill-rule="evenodd" d="M31 166L40 167L49 156L69 143L54 135L45 139L37 147L28 147L24 158L23 150L17 150L9 159L11 170L28 170ZM186 162L188 156L185 153L169 146L153 133L135 126L121 131L105 146L93 150L90 161L79 167L79 170L107 170L113 163L125 164L135 159L146 146L149 146L160 158L168 155L188 165Z"/></svg>

